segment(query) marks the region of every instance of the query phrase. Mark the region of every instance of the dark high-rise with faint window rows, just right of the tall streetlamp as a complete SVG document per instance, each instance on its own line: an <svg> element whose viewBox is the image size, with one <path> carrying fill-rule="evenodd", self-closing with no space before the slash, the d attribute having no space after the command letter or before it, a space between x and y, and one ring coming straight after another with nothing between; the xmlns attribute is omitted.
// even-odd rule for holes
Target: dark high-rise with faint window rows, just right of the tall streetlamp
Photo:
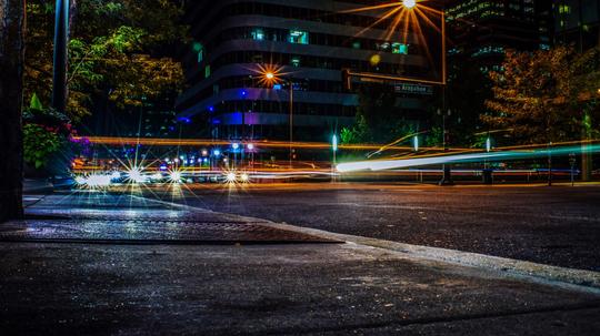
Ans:
<svg viewBox="0 0 600 336"><path fill-rule="evenodd" d="M548 0L448 1L449 55L461 54L488 72L500 70L508 49L550 49L551 8Z"/></svg>

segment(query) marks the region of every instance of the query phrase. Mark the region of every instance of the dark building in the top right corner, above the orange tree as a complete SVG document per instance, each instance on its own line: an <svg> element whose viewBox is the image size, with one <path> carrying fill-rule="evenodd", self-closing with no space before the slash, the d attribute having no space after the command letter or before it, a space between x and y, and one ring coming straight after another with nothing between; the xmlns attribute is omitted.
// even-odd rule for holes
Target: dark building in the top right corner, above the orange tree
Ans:
<svg viewBox="0 0 600 336"><path fill-rule="evenodd" d="M600 0L553 1L554 41L583 51L600 44Z"/></svg>

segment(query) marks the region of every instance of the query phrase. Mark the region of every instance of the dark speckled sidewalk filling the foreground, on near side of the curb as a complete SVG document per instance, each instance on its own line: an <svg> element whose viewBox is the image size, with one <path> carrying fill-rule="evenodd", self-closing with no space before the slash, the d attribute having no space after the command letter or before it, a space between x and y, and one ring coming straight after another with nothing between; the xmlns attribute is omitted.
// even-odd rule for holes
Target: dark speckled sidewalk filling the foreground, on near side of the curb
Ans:
<svg viewBox="0 0 600 336"><path fill-rule="evenodd" d="M267 221L102 193L27 212L39 220L0 227L2 335L600 332L593 291Z"/></svg>

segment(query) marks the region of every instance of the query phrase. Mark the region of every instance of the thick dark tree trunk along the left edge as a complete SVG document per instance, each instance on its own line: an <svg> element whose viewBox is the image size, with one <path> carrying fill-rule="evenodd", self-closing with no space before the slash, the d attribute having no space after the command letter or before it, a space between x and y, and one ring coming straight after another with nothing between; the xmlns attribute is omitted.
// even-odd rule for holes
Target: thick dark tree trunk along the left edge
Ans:
<svg viewBox="0 0 600 336"><path fill-rule="evenodd" d="M23 215L24 6L24 0L0 0L0 223Z"/></svg>

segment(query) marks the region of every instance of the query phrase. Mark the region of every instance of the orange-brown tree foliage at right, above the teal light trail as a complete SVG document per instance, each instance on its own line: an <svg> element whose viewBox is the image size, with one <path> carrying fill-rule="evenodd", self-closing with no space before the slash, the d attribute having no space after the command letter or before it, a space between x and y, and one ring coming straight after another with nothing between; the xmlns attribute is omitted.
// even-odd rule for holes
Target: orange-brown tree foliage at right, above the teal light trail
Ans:
<svg viewBox="0 0 600 336"><path fill-rule="evenodd" d="M567 47L508 52L503 71L490 74L491 113L482 120L510 130L518 143L581 139L583 121L598 120L599 57L598 49L578 54Z"/></svg>

